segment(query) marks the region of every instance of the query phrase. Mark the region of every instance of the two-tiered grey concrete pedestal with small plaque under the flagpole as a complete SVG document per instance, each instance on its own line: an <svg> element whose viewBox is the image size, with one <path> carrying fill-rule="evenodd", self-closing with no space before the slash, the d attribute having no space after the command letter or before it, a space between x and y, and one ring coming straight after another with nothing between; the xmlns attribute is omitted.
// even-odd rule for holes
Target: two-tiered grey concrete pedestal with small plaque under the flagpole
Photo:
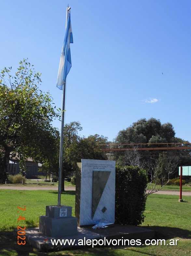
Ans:
<svg viewBox="0 0 191 256"><path fill-rule="evenodd" d="M52 237L75 235L77 218L72 217L72 207L46 206L46 215L40 216L39 231Z"/></svg>

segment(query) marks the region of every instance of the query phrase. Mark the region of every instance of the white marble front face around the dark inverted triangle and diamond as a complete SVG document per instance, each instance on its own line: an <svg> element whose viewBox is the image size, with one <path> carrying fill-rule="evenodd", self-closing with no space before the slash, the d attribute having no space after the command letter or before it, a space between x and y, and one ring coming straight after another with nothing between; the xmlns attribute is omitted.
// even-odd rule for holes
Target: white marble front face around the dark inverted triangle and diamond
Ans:
<svg viewBox="0 0 191 256"><path fill-rule="evenodd" d="M101 219L115 221L115 161L82 159L79 225L95 224ZM108 171L109 178L92 219L93 171ZM103 208L107 210L102 212Z"/></svg>

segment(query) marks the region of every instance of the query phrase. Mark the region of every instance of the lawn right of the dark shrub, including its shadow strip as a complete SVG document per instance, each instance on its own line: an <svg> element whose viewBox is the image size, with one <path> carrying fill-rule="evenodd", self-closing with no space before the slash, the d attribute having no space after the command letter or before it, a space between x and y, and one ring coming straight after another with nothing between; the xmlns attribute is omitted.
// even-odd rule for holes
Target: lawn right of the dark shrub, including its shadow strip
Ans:
<svg viewBox="0 0 191 256"><path fill-rule="evenodd" d="M178 199L179 196L174 195L148 196L142 226L158 231L167 239L170 233L175 237L191 238L191 196L183 196L184 202Z"/></svg>

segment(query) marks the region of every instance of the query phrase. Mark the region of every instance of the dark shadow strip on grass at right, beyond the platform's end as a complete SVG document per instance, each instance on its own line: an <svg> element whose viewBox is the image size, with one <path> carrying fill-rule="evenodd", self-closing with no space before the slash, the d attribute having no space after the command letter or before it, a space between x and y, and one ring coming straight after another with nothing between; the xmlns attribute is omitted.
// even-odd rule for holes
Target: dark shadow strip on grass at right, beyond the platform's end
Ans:
<svg viewBox="0 0 191 256"><path fill-rule="evenodd" d="M171 227L160 227L160 226L148 226L143 227L155 231L155 238L157 239L173 239L174 237L180 237L185 239L191 239L191 231L184 230L180 228L171 228Z"/></svg>

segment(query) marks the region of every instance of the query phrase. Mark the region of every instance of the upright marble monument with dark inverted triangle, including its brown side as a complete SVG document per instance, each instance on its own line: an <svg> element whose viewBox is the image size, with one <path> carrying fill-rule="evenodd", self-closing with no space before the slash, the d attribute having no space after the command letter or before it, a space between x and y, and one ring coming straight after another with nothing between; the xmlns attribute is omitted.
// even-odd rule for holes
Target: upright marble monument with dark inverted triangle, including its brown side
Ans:
<svg viewBox="0 0 191 256"><path fill-rule="evenodd" d="M115 161L77 163L75 216L78 226L115 221Z"/></svg>

